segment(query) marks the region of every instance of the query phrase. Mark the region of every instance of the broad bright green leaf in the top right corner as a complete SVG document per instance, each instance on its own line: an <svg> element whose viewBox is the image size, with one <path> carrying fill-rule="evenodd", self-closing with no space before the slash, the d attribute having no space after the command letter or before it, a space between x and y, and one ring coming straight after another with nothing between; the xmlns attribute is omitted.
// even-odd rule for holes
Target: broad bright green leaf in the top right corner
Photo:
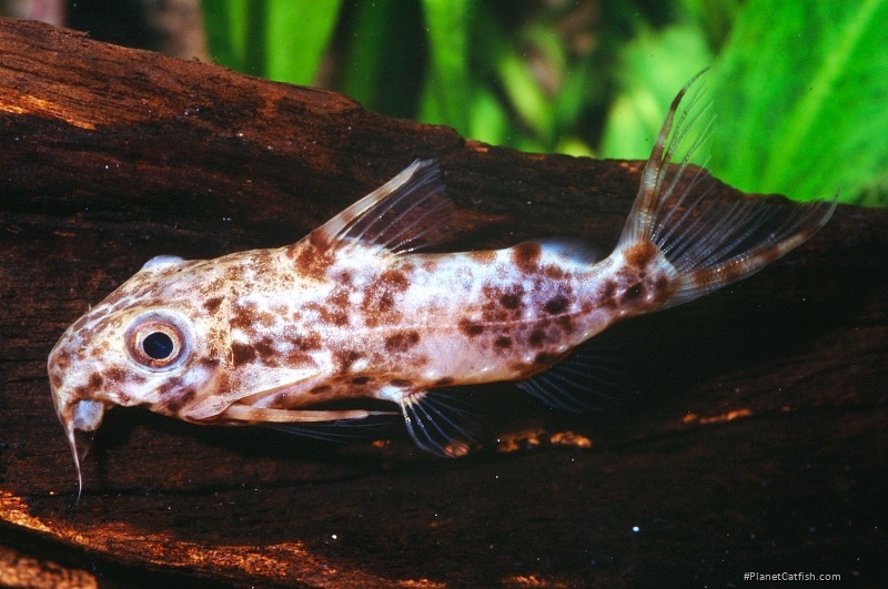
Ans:
<svg viewBox="0 0 888 589"><path fill-rule="evenodd" d="M714 72L710 167L750 192L846 201L888 171L888 2L745 7Z"/></svg>

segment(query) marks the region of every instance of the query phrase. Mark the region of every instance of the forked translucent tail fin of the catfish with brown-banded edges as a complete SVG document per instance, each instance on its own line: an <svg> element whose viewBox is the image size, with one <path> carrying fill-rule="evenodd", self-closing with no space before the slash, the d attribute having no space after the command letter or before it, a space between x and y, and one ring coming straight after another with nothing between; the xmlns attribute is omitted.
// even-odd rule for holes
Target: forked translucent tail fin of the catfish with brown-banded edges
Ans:
<svg viewBox="0 0 888 589"><path fill-rule="evenodd" d="M704 73L685 84L669 106L617 246L653 243L672 264L677 290L665 307L761 270L814 235L836 207L835 199L800 204L714 194L717 182L705 167L690 165L692 156L705 151L715 120L705 100Z"/></svg>

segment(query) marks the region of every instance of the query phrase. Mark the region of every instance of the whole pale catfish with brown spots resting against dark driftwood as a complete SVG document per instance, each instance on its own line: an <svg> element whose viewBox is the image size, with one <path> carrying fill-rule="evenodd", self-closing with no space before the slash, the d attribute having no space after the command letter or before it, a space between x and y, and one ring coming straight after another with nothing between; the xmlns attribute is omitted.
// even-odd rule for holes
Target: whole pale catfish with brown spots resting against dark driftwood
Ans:
<svg viewBox="0 0 888 589"><path fill-rule="evenodd" d="M712 179L688 162L708 139L708 106L696 92L677 113L693 83L672 104L616 247L597 262L565 241L421 253L447 214L433 161L293 245L149 261L49 356L81 487L78 438L114 406L299 427L360 423L380 412L330 402L382 399L400 407L418 446L461 454L460 415L436 403L442 390L515 380L557 403L575 379L552 367L581 343L743 278L810 237L834 205L710 196Z"/></svg>

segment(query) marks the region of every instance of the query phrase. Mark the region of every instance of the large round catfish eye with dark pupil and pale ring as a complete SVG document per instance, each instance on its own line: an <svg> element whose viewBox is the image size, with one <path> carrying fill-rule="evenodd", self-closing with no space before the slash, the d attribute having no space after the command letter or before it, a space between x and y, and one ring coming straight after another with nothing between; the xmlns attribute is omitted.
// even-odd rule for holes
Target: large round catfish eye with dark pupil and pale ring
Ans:
<svg viewBox="0 0 888 589"><path fill-rule="evenodd" d="M167 313L137 318L127 329L127 351L132 359L151 369L178 365L191 346L184 322Z"/></svg>

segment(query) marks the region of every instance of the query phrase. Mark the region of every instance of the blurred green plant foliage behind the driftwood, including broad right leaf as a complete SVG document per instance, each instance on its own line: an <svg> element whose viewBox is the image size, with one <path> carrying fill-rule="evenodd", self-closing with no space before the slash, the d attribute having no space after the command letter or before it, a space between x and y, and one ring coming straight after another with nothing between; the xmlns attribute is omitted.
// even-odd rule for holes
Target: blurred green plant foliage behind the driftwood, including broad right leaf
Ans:
<svg viewBox="0 0 888 589"><path fill-rule="evenodd" d="M213 59L533 152L646 159L707 65L708 166L888 204L888 2L203 0Z"/></svg>

